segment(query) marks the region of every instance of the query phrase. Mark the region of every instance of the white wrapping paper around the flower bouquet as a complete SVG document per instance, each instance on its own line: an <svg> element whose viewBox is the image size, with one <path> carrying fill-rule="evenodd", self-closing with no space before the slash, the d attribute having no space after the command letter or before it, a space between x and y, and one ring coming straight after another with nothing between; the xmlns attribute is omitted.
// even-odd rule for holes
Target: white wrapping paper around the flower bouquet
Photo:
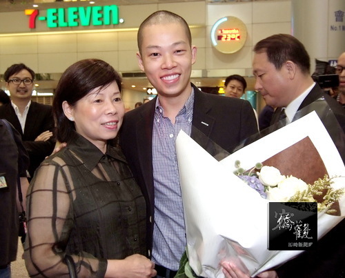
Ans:
<svg viewBox="0 0 345 278"><path fill-rule="evenodd" d="M345 168L331 137L315 112L217 161L186 133L176 141L184 203L189 264L202 277L224 277L220 262L233 261L254 277L303 251L269 251L268 200L233 174L235 161L249 169L255 163L309 137L319 152L336 188L345 185ZM345 197L339 201L341 217L318 215L318 239L345 217Z"/></svg>

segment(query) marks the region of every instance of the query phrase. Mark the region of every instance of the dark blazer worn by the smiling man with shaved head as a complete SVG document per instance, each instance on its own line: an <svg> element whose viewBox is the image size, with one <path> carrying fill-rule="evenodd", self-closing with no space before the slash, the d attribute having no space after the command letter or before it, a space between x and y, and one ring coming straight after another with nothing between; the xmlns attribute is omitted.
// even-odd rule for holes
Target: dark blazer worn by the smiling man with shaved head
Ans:
<svg viewBox="0 0 345 278"><path fill-rule="evenodd" d="M257 122L248 101L195 92L191 137L208 150L199 131L227 152L256 133ZM152 128L156 99L126 112L120 131L120 145L130 169L146 197L148 212L148 249L152 248L155 196L152 174ZM215 155L215 154L213 154Z"/></svg>

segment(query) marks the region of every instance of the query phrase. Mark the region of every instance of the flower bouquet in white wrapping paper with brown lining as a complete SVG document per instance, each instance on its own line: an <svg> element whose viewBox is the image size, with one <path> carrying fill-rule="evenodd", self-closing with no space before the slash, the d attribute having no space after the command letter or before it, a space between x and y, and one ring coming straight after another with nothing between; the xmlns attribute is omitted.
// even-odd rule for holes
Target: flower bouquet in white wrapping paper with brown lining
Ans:
<svg viewBox="0 0 345 278"><path fill-rule="evenodd" d="M184 132L176 148L186 251L195 275L224 277L220 262L226 260L254 277L303 252L268 250L271 200L317 199L317 239L345 217L344 163L315 112L221 161Z"/></svg>

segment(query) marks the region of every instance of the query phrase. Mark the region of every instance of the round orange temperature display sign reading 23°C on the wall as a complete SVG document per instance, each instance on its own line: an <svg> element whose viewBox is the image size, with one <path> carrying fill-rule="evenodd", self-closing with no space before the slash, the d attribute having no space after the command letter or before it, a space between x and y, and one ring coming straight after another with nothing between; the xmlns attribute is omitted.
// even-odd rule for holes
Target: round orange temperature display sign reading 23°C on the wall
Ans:
<svg viewBox="0 0 345 278"><path fill-rule="evenodd" d="M237 17L223 17L211 30L212 45L222 53L237 52L244 46L246 39L246 25Z"/></svg>

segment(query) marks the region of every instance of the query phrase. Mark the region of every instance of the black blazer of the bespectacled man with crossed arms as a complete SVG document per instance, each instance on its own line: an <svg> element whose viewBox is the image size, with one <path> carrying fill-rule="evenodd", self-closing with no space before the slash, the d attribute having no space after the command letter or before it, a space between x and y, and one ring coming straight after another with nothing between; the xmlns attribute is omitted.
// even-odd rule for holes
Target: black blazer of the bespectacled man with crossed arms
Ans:
<svg viewBox="0 0 345 278"><path fill-rule="evenodd" d="M48 141L34 141L37 136L46 130L54 132L55 124L52 117L52 106L31 101L24 133L21 130L21 124L11 103L0 106L0 119L7 119L20 133L23 145L30 157L29 173L33 177L34 170L54 150L55 136Z"/></svg>

